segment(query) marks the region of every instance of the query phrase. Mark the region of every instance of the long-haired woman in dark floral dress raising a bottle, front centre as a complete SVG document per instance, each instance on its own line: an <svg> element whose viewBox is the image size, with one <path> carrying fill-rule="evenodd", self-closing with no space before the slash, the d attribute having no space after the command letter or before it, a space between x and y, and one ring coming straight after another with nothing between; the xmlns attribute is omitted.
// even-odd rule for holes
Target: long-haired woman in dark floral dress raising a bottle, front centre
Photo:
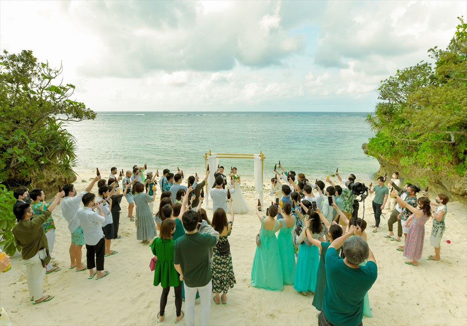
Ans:
<svg viewBox="0 0 467 326"><path fill-rule="evenodd" d="M219 232L219 242L213 251L213 264L211 271L213 273L213 293L215 294L214 302L216 305L227 304L227 292L233 288L235 274L233 274L232 254L229 251L227 255L222 254L218 248L222 248L228 242L228 237L232 232L233 217L235 215L232 205L232 198L229 199L230 218L227 220L226 211L223 208L218 208L213 214L211 226ZM219 294L222 296L219 299Z"/></svg>

